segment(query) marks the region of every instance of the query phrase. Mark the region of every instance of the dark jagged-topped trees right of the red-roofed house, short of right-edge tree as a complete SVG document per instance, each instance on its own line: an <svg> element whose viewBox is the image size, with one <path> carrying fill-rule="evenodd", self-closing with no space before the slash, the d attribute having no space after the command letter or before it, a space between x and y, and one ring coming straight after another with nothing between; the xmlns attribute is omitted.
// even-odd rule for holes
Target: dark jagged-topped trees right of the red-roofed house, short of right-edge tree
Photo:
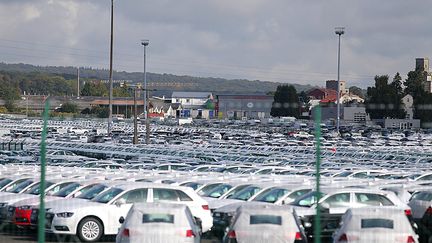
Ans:
<svg viewBox="0 0 432 243"><path fill-rule="evenodd" d="M405 118L402 107L404 93L400 88L400 75L396 74L392 83L389 76L375 76L375 87L368 87L366 111L372 119Z"/></svg>

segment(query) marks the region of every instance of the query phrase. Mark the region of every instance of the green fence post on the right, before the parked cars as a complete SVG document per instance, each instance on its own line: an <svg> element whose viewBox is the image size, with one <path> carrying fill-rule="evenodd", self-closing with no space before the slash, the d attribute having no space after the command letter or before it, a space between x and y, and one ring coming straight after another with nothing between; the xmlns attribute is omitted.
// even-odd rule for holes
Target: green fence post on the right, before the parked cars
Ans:
<svg viewBox="0 0 432 243"><path fill-rule="evenodd" d="M321 212L319 207L320 194L320 167L321 167L321 107L315 107L315 147L316 147L316 192L317 206L314 223L314 242L321 243Z"/></svg>

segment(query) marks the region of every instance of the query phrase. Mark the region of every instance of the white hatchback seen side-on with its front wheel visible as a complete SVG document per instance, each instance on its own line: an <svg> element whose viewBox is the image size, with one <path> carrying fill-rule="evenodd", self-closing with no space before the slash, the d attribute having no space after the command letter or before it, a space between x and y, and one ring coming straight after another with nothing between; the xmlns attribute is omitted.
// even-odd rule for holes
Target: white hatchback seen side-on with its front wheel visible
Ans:
<svg viewBox="0 0 432 243"><path fill-rule="evenodd" d="M207 202L191 188L150 183L113 187L92 201L65 202L49 208L47 230L55 234L75 235L82 241L97 241L102 235L116 235L119 218L125 217L133 203L170 202L187 205L202 222L203 231L212 227Z"/></svg>

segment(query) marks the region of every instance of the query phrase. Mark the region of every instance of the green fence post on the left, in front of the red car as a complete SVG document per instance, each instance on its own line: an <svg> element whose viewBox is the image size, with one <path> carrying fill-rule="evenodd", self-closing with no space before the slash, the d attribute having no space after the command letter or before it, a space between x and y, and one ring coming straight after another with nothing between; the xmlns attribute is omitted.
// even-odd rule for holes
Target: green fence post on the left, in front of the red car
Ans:
<svg viewBox="0 0 432 243"><path fill-rule="evenodd" d="M39 215L38 215L38 242L45 243L45 167L46 167L46 135L48 126L48 112L49 112L49 99L45 101L45 111L43 114L43 129L41 141L41 178L40 178L40 201L39 201Z"/></svg>

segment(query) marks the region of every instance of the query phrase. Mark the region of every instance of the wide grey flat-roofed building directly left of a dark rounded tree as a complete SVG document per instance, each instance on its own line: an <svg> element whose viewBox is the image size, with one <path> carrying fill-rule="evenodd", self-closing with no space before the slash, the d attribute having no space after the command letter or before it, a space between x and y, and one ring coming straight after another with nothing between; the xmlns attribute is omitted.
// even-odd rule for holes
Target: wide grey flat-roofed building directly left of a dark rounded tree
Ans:
<svg viewBox="0 0 432 243"><path fill-rule="evenodd" d="M270 117L273 104L271 95L217 95L216 110L219 118L261 119Z"/></svg>

